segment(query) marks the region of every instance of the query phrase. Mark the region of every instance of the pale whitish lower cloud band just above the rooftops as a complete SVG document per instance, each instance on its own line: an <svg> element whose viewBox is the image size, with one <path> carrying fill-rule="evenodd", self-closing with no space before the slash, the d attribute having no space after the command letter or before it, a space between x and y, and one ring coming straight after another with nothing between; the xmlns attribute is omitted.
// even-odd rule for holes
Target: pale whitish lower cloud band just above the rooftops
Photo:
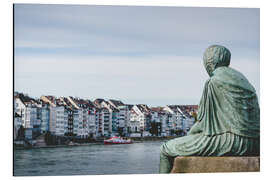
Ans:
<svg viewBox="0 0 270 180"><path fill-rule="evenodd" d="M232 67L247 75L259 92L256 61L238 60ZM208 78L198 57L15 58L15 89L31 87L27 90L37 96L47 92L58 96L119 98L137 103L141 99L159 100L160 105L170 100L180 104L198 103Z"/></svg>

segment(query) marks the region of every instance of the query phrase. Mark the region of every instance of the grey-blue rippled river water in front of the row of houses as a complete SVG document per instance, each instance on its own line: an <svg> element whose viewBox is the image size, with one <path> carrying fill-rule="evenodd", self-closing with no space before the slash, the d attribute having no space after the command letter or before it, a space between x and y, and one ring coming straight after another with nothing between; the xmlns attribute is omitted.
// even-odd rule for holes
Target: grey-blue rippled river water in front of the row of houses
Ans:
<svg viewBox="0 0 270 180"><path fill-rule="evenodd" d="M157 174L163 142L15 150L14 175Z"/></svg>

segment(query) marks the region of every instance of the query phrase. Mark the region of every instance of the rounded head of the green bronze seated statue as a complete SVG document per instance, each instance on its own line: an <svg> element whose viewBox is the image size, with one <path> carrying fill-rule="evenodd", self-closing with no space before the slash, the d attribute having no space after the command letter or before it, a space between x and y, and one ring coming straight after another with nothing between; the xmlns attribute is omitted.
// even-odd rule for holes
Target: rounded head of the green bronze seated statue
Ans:
<svg viewBox="0 0 270 180"><path fill-rule="evenodd" d="M203 54L203 64L209 74L213 75L213 71L221 66L229 66L231 60L230 51L224 46L213 45L208 47Z"/></svg>

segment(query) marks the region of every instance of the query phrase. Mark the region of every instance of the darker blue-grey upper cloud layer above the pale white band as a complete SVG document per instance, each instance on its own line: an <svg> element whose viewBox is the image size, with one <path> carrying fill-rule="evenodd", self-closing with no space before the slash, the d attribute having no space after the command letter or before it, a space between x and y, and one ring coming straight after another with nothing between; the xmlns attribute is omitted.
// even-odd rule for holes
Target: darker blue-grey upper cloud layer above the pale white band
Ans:
<svg viewBox="0 0 270 180"><path fill-rule="evenodd" d="M72 52L101 56L134 52L182 56L199 54L210 44L256 53L259 9L15 6L17 49L45 48L44 53L50 53L46 48L68 52L73 47Z"/></svg>

